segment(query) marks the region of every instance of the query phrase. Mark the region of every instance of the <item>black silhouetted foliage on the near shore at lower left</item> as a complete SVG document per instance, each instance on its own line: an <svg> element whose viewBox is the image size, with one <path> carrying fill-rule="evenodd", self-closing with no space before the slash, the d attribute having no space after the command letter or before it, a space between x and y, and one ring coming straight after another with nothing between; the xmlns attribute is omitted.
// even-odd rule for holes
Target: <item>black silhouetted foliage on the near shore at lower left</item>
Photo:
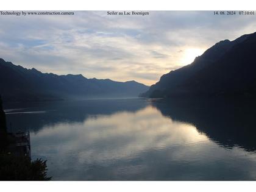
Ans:
<svg viewBox="0 0 256 192"><path fill-rule="evenodd" d="M51 180L51 177L47 177L46 160L37 159L31 162L29 157L8 151L11 138L8 137L0 96L0 180Z"/></svg>

